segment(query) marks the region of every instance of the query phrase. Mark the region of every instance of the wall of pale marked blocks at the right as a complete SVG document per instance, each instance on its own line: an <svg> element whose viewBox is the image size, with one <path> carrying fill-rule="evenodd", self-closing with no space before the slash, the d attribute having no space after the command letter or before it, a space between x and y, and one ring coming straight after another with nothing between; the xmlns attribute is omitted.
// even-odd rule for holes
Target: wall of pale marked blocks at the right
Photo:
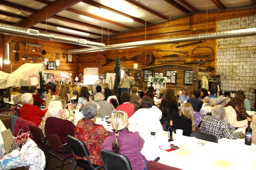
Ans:
<svg viewBox="0 0 256 170"><path fill-rule="evenodd" d="M256 27L256 16L220 20L218 31ZM256 88L256 36L217 40L217 68L223 91L243 90L254 108Z"/></svg>

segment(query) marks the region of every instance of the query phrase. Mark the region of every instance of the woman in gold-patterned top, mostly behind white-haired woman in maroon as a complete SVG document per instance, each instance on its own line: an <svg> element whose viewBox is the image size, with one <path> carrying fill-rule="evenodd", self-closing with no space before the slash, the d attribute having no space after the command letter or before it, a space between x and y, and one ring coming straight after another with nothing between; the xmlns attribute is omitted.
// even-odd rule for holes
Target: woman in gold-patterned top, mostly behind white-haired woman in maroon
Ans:
<svg viewBox="0 0 256 170"><path fill-rule="evenodd" d="M75 123L75 114L72 112L72 108L70 105L68 105L68 109L66 109L67 107L67 102L66 102L66 98L65 97L59 97L57 96L57 98L55 98L55 101L60 101L62 104L62 109L64 110L63 114L61 115L61 119L63 120L68 120L72 123ZM45 131L45 121L46 119L50 117L50 113L49 111L46 112L45 116L43 116L43 120L41 121L39 128L43 131Z"/></svg>

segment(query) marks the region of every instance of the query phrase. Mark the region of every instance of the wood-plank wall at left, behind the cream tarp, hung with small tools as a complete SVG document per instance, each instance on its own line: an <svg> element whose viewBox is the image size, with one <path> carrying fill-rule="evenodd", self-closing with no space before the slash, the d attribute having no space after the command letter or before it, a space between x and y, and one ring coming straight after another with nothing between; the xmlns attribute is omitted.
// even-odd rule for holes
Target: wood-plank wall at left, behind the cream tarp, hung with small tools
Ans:
<svg viewBox="0 0 256 170"><path fill-rule="evenodd" d="M25 49L25 42L30 42L34 44L40 43L43 45L43 49L46 51L45 56L43 56L40 52L38 52L38 49L36 47L32 47L30 52L27 52ZM20 46L20 50L17 51L19 54L19 60L15 60L15 44L18 43ZM60 60L60 66L57 66L57 70L48 70L47 65L45 65L44 72L45 73L54 73L54 79L57 80L57 78L60 76L60 72L65 72L67 74L72 73L71 81L75 82L75 76L76 76L76 56L73 54L73 63L66 63L67 61L67 49L76 49L77 46L75 45L68 45L64 43L59 42L52 42L52 41L44 41L44 40L35 40L35 39L29 39L29 38L21 38L16 37L13 41L10 42L10 62L11 65L5 65L4 72L11 73L14 72L20 65L23 65L24 63L42 63L43 60L31 60L31 59L25 59L22 60L24 55L29 56L43 56L44 58L48 58L49 61L55 62L56 61L56 53L59 53L59 60ZM34 50L34 51L32 51ZM65 54L65 59L62 58L62 54ZM12 67L12 68L11 68Z"/></svg>

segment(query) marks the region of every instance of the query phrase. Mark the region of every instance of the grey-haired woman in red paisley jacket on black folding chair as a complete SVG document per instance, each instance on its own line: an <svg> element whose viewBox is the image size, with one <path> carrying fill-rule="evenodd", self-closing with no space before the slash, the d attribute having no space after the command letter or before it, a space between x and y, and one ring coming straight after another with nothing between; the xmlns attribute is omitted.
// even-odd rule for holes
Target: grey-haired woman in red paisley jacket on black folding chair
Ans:
<svg viewBox="0 0 256 170"><path fill-rule="evenodd" d="M92 164L102 165L100 159L100 150L105 138L109 136L109 132L102 125L95 124L95 117L99 114L99 106L94 102L88 102L82 109L84 118L77 122L75 127L74 137L84 141L90 155ZM78 157L74 155L75 159L84 159L86 157Z"/></svg>

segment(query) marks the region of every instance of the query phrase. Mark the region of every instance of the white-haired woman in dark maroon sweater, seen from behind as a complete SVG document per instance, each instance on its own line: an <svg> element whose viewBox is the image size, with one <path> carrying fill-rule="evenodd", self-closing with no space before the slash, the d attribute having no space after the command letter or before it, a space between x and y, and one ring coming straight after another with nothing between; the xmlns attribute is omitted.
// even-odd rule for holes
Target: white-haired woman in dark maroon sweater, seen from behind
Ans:
<svg viewBox="0 0 256 170"><path fill-rule="evenodd" d="M75 125L72 122L61 119L64 112L61 101L52 101L48 105L50 117L45 121L45 132L57 134L63 144L68 142L66 139L68 134L73 136L75 129Z"/></svg>

